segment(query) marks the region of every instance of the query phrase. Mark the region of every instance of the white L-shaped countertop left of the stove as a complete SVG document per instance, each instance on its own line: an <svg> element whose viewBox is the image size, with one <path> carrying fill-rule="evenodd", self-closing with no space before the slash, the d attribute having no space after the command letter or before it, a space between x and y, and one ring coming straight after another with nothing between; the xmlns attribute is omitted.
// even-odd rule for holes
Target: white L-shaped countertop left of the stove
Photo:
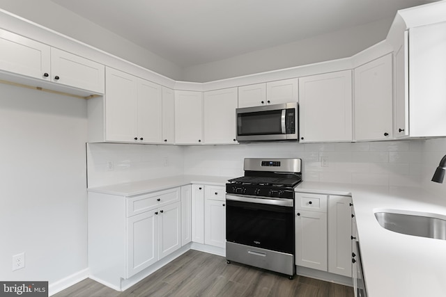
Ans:
<svg viewBox="0 0 446 297"><path fill-rule="evenodd" d="M216 186L224 186L228 179L232 177L215 177L206 175L179 175L175 177L162 177L159 179L147 179L139 182L126 182L123 184L112 184L110 186L99 186L88 188L89 192L134 196L155 191L162 191L167 188L175 188L186 184L210 184Z"/></svg>

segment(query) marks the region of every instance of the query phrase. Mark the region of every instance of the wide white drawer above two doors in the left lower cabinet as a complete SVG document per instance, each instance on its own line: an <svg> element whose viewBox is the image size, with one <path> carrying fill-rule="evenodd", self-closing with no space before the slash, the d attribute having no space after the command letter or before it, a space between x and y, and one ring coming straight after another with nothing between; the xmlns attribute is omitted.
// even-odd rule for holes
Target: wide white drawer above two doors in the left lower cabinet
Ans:
<svg viewBox="0 0 446 297"><path fill-rule="evenodd" d="M127 200L127 216L141 214L157 207L180 201L180 188L141 195Z"/></svg>

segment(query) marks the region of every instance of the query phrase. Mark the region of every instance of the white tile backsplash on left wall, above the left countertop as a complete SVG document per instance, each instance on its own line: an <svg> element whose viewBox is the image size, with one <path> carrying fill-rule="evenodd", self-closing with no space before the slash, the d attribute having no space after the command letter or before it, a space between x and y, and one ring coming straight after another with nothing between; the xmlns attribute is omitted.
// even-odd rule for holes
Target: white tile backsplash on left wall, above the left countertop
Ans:
<svg viewBox="0 0 446 297"><path fill-rule="evenodd" d="M89 143L87 160L89 188L183 175L183 148L177 145Z"/></svg>

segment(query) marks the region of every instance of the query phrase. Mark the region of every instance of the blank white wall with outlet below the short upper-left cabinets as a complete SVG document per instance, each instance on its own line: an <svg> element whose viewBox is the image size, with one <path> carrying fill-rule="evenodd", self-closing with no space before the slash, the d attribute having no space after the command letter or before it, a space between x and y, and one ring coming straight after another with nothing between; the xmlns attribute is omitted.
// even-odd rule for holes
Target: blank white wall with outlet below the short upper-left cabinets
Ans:
<svg viewBox="0 0 446 297"><path fill-rule="evenodd" d="M0 84L0 280L87 268L86 137L86 100Z"/></svg>

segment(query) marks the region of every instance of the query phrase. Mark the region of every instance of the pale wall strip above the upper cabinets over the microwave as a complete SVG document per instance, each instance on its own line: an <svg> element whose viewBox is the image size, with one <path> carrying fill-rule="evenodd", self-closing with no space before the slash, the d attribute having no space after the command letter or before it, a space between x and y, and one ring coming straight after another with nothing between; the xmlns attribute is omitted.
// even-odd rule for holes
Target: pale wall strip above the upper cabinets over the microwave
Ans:
<svg viewBox="0 0 446 297"><path fill-rule="evenodd" d="M393 19L314 36L222 61L186 67L184 81L206 82L351 57L385 40Z"/></svg>

